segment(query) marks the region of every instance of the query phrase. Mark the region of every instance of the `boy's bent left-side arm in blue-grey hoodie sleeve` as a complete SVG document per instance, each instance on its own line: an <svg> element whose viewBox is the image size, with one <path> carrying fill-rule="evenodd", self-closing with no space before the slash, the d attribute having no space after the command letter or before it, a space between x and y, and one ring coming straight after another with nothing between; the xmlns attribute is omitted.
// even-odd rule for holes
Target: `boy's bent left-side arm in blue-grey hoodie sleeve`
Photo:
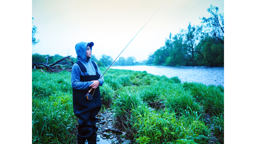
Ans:
<svg viewBox="0 0 256 144"><path fill-rule="evenodd" d="M74 64L71 70L71 85L72 88L77 90L86 90L93 82L81 82L80 81L80 68Z"/></svg>

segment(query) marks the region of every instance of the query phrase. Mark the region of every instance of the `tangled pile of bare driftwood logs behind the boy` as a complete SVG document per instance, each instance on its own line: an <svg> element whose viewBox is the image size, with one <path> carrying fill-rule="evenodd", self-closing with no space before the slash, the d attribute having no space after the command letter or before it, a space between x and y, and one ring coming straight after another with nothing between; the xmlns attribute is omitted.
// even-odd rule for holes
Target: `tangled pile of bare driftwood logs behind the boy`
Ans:
<svg viewBox="0 0 256 144"><path fill-rule="evenodd" d="M41 71L43 71L42 68L46 68L47 70L50 70L51 72L54 72L53 69L57 69L57 68L58 69L62 69L62 70L63 69L70 69L74 65L74 62L71 61L71 59L72 59L72 58L70 58L71 56L67 56L67 57L61 58L61 59L57 60L56 62L54 62L53 64L47 65L48 64L48 58L50 58L50 57L52 57L52 56L45 57L46 58L46 64L43 64L43 63L32 63L32 68L33 69L41 69ZM60 64L64 60L69 61L70 64L65 64L65 65ZM68 65L70 65L70 66L67 67Z"/></svg>

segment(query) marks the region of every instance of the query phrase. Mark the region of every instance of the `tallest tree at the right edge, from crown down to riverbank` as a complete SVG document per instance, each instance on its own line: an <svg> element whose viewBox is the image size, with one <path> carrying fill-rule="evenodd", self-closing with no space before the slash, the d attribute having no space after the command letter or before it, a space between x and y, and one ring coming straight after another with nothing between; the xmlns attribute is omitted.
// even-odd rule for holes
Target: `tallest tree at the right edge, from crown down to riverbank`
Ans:
<svg viewBox="0 0 256 144"><path fill-rule="evenodd" d="M219 13L219 8L212 5L207 11L211 16L201 19L208 32L200 42L204 61L209 66L224 66L224 14Z"/></svg>

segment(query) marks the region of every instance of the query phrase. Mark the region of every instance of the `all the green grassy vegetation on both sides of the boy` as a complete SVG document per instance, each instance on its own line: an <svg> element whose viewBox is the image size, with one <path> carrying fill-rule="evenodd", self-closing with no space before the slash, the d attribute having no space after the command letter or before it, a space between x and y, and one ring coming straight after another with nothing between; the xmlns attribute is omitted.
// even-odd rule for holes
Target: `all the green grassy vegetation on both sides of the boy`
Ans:
<svg viewBox="0 0 256 144"><path fill-rule="evenodd" d="M102 104L113 108L116 127L134 144L204 144L210 133L224 143L222 86L118 69L109 69L104 79ZM32 71L32 143L75 143L78 122L70 81L67 71Z"/></svg>

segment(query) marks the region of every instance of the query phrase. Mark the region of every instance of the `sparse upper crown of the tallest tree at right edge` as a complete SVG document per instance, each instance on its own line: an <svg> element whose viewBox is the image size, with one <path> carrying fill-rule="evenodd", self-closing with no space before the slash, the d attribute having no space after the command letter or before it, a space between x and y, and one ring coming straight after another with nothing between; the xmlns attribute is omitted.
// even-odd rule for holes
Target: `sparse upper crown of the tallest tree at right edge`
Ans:
<svg viewBox="0 0 256 144"><path fill-rule="evenodd" d="M205 28L212 37L224 44L224 14L219 13L219 8L212 5L207 11L211 13L211 16L203 17L201 23L205 23Z"/></svg>

